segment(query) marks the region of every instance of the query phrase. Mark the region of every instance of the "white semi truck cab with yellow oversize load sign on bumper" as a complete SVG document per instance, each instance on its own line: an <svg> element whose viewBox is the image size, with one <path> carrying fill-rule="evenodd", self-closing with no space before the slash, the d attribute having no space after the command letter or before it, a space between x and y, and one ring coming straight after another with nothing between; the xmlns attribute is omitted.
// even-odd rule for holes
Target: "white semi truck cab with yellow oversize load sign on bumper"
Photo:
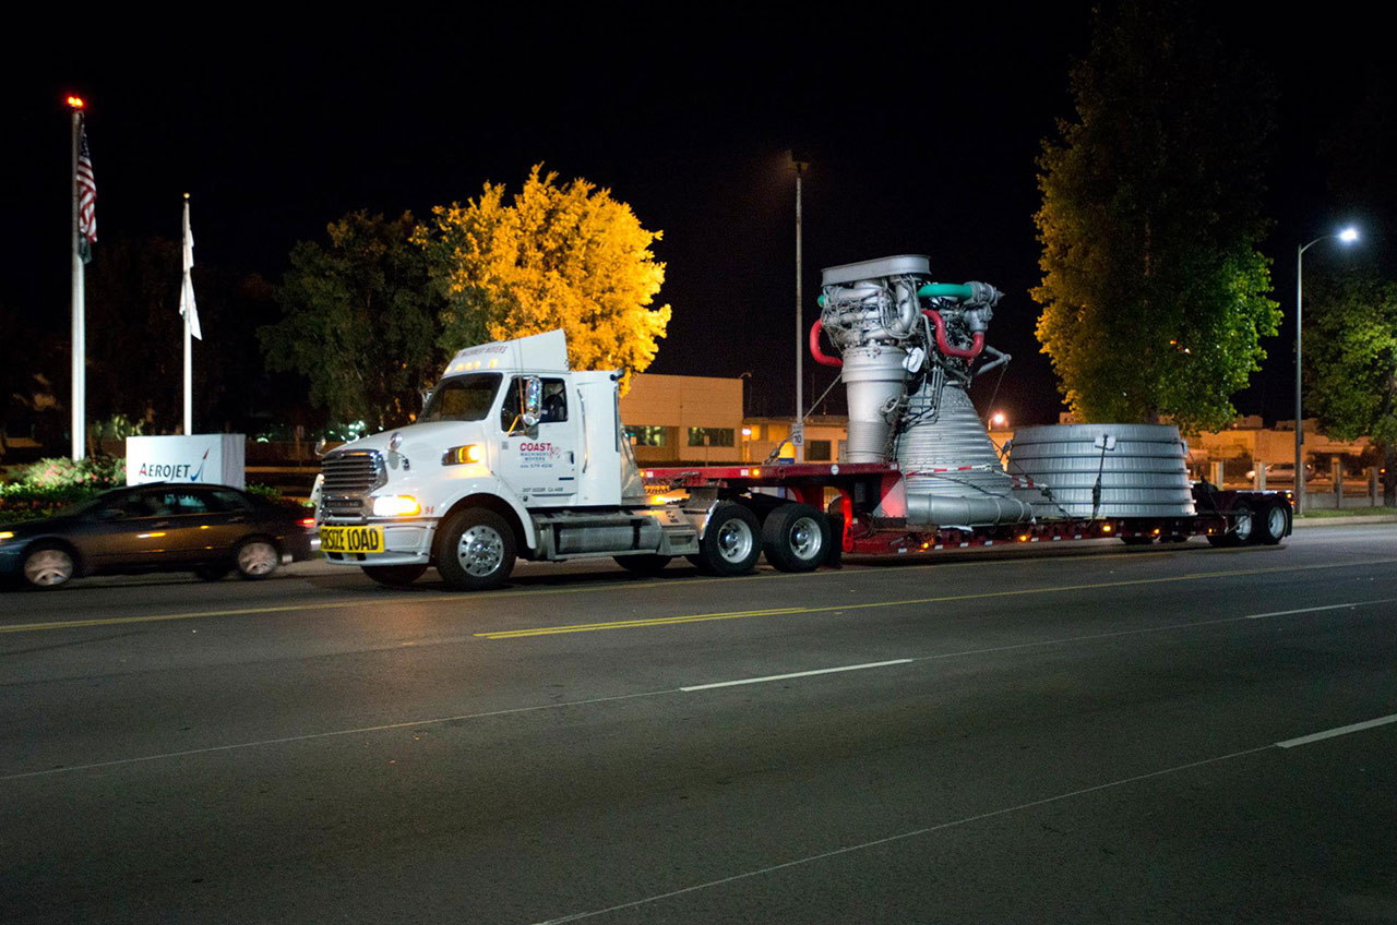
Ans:
<svg viewBox="0 0 1397 925"><path fill-rule="evenodd" d="M697 553L705 513L648 503L619 379L570 370L562 331L460 351L416 422L326 456L326 559L391 585L436 566L478 588L515 556L662 566Z"/></svg>

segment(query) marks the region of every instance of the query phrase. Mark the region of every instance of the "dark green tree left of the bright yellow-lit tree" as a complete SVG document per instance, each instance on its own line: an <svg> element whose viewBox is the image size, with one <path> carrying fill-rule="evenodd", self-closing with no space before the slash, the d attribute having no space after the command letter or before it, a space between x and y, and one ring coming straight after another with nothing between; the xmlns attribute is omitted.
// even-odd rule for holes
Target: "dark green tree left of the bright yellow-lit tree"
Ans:
<svg viewBox="0 0 1397 925"><path fill-rule="evenodd" d="M258 331L267 365L310 380L332 421L374 429L407 423L440 374L441 307L415 221L349 212L327 226L328 246L299 242L278 298L284 317Z"/></svg>

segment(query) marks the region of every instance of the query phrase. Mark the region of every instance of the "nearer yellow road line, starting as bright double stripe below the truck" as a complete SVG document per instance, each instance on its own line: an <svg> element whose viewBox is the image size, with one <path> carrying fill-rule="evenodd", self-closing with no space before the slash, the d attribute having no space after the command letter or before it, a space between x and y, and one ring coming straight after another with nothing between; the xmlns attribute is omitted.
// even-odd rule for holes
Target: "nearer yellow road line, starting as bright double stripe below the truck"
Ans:
<svg viewBox="0 0 1397 925"><path fill-rule="evenodd" d="M1312 566L1274 566L1267 569L1241 569L1236 571L1193 571L1178 576L1164 576L1158 578L1126 578L1120 581L1098 581L1094 584L1062 584L1062 585L1048 585L1041 588L1020 588L1014 591L979 591L974 594L944 594L930 598L909 598L904 601L866 601L854 602L844 601L840 604L828 604L820 606L795 606L795 608L773 608L761 611L722 611L712 613L685 613L680 616L654 616L634 620L610 620L606 623L569 623L563 626L535 626L527 629L514 630L490 630L485 633L475 633L479 639L488 640L506 640L506 639L531 639L535 636L557 636L562 633L591 633L598 630L624 630L624 629L644 629L652 626L675 626L679 623L703 623L707 620L733 620L753 616L802 616L809 613L830 613L835 611L870 611L882 609L890 606L918 606L926 604L950 604L956 601L986 601L993 598L1014 598L1014 597L1030 597L1037 594L1060 594L1065 591L1094 591L1102 588L1123 588L1133 585L1147 585L1147 584L1171 584L1179 581L1201 581L1211 578L1234 578L1234 577L1248 577L1257 574L1278 574L1278 573L1296 573L1296 571L1313 571L1319 569L1345 569L1352 566L1369 566L1369 565L1391 565L1397 559L1375 559L1372 562L1344 562L1344 563L1323 563Z"/></svg>

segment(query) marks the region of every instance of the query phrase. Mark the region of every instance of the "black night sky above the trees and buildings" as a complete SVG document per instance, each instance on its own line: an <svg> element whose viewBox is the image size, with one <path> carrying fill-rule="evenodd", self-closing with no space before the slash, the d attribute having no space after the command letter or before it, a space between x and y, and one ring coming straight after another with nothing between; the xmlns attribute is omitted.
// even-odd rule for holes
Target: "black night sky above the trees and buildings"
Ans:
<svg viewBox="0 0 1397 925"><path fill-rule="evenodd" d="M486 180L517 189L539 161L564 179L584 176L664 232L661 300L675 317L650 372L750 370L749 411L789 414L787 152L796 148L812 163L806 326L817 317L821 267L929 254L943 281L1006 292L989 342L1014 362L995 404L1014 423L1051 422L1056 383L1027 292L1039 278L1034 158L1055 120L1071 115L1067 68L1088 48L1090 6L964 7L851 7L835 17L654 7L624 20L471 13L355 27L249 13L183 34L113 20L66 46L43 32L32 61L3 73L11 133L0 155L0 303L67 327L63 98L77 91L89 102L103 240L177 239L189 191L197 261L272 281L296 240L324 240L324 225L346 211L422 217ZM658 22L661 13L673 21ZM1294 253L1348 218L1330 201L1322 152L1372 77L1362 64L1375 60L1359 52L1376 48L1377 29L1319 6L1288 21L1228 15L1220 25L1229 45L1250 49L1280 92L1267 253L1287 312L1264 373L1235 402L1288 418ZM1344 70L1350 60L1356 71ZM1387 246L1383 229L1369 240ZM1345 257L1310 250L1306 278L1310 261L1331 258ZM205 337L217 342L217 331ZM810 401L833 370L809 358L805 367ZM992 388L977 384L981 405Z"/></svg>

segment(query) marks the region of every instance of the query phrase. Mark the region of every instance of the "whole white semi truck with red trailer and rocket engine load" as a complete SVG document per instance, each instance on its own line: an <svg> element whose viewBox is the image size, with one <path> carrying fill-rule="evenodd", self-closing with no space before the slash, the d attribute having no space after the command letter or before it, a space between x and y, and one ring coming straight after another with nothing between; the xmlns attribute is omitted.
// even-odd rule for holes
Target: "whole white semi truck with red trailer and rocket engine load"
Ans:
<svg viewBox="0 0 1397 925"><path fill-rule="evenodd" d="M1190 483L1172 428L1020 430L1006 462L967 397L974 376L1007 360L985 344L999 298L986 284L933 282L921 256L824 271L810 348L848 390L835 464L641 471L620 374L570 370L562 331L469 347L415 423L324 457L321 551L383 584L434 566L448 587L475 590L504 583L518 556L615 558L634 571L686 556L742 574L763 553L806 571L845 552L1289 532L1284 493Z"/></svg>

